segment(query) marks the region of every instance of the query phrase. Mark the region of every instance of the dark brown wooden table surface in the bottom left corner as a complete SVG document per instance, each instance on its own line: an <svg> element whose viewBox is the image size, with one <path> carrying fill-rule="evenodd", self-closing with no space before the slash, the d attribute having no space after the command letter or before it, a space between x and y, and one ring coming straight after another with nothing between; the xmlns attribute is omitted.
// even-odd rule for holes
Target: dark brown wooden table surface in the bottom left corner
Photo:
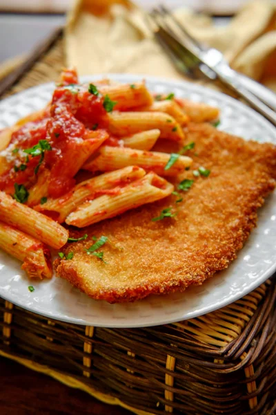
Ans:
<svg viewBox="0 0 276 415"><path fill-rule="evenodd" d="M1 415L130 415L17 362L0 358Z"/></svg>

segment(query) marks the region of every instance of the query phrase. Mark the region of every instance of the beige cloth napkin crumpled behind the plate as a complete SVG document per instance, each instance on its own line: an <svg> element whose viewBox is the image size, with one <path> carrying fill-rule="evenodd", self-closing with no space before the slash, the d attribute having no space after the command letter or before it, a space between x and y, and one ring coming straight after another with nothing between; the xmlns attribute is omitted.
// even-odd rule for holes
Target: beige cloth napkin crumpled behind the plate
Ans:
<svg viewBox="0 0 276 415"><path fill-rule="evenodd" d="M175 15L199 41L221 50L233 68L276 91L276 7L253 0L228 26L181 8ZM66 59L80 75L139 73L183 79L128 0L77 0L66 26Z"/></svg>

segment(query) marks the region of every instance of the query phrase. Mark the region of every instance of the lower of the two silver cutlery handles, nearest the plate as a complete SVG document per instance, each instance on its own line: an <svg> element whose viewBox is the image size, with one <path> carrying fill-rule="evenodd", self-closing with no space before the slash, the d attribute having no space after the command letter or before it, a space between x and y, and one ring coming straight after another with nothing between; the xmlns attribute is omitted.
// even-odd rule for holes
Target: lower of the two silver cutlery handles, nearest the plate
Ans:
<svg viewBox="0 0 276 415"><path fill-rule="evenodd" d="M225 76L220 71L216 71L217 76L224 82L227 86L230 86L233 91L235 91L240 97L244 98L248 104L251 105L254 109L256 109L259 113L262 114L265 118L267 118L273 125L276 127L276 113L272 109L270 109L264 102L259 100L253 93L248 91L242 84L239 82L232 82L229 77Z"/></svg>

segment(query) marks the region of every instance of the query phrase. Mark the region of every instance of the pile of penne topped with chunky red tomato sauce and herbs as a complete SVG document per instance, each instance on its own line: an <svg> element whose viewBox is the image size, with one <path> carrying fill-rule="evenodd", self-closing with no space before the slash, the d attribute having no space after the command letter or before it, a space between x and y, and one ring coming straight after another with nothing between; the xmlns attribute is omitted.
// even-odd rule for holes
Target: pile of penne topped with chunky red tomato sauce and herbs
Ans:
<svg viewBox="0 0 276 415"><path fill-rule="evenodd" d="M145 82L79 84L65 70L46 109L1 131L0 247L30 277L52 275L48 247L68 242L62 223L109 219L172 194L164 177L185 181L193 160L182 127L218 112L172 95L156 100ZM152 151L159 138L178 151Z"/></svg>

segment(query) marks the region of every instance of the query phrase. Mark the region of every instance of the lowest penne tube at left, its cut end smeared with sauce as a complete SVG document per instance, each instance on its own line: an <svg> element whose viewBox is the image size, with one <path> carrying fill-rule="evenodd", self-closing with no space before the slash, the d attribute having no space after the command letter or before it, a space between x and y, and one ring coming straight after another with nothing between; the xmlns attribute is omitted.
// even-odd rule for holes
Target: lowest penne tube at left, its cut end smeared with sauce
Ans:
<svg viewBox="0 0 276 415"><path fill-rule="evenodd" d="M22 269L29 277L52 277L50 250L29 235L0 222L0 248L23 262Z"/></svg>

